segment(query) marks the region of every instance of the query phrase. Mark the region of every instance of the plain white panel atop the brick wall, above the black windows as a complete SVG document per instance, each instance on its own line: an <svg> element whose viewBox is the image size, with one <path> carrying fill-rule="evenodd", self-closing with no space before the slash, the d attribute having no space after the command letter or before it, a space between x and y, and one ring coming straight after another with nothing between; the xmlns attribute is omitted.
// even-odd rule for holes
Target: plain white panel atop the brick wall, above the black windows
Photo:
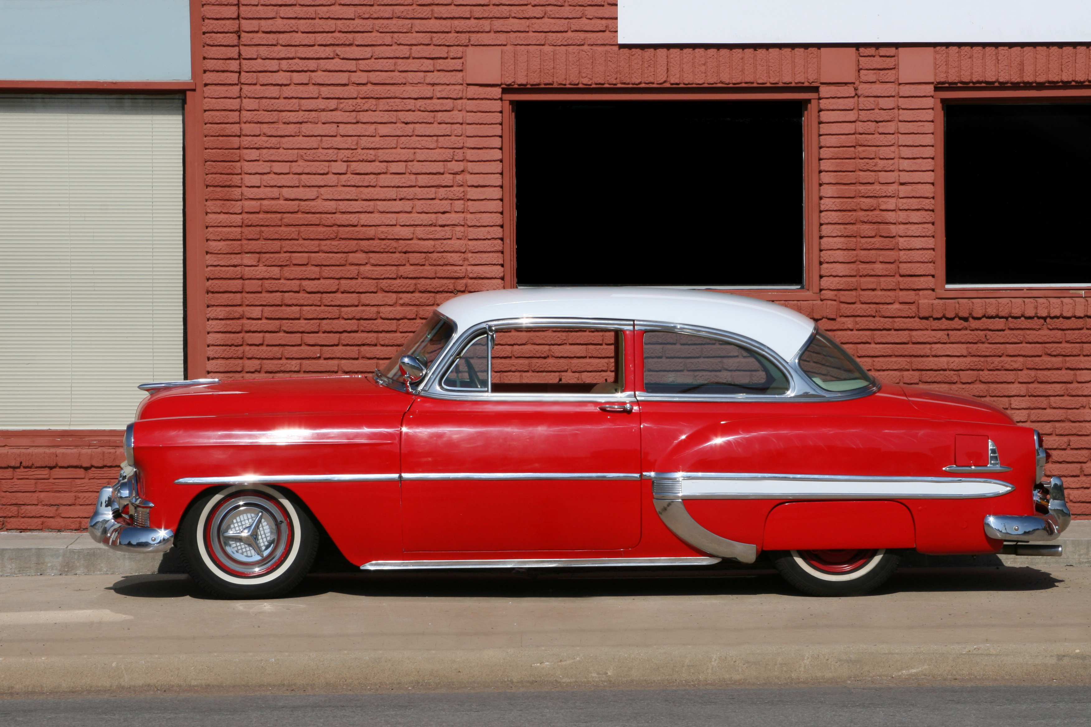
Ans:
<svg viewBox="0 0 1091 727"><path fill-rule="evenodd" d="M1091 41L1089 0L620 0L621 44Z"/></svg>

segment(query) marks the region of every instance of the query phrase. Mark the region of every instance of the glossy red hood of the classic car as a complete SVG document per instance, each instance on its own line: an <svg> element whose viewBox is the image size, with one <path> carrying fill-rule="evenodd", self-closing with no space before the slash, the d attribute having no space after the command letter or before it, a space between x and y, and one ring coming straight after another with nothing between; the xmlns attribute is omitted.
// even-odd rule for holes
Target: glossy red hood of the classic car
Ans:
<svg viewBox="0 0 1091 727"><path fill-rule="evenodd" d="M405 412L411 399L364 376L250 379L155 391L136 419Z"/></svg>

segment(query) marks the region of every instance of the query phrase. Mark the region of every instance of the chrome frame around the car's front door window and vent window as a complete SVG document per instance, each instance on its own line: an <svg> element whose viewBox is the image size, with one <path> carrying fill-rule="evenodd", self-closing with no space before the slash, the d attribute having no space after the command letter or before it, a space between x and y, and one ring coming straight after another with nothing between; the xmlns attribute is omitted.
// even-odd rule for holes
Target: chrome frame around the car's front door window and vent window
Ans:
<svg viewBox="0 0 1091 727"><path fill-rule="evenodd" d="M483 320L461 335L452 337L452 342L436 356L436 363L421 381L416 393L433 399L460 399L472 401L636 401L634 391L618 393L494 393L492 391L492 347L497 329L528 328L594 328L600 330L625 331L634 330L634 322L630 318L550 318L519 316L518 318L496 318ZM484 331L490 337L489 342L489 390L447 389L442 386L449 367L461 352L476 341Z"/></svg>

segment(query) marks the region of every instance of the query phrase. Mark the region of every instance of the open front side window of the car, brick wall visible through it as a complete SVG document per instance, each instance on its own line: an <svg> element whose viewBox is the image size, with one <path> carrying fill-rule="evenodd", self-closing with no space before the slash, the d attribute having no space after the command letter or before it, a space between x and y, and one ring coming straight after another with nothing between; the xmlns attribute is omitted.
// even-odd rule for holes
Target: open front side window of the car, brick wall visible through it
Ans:
<svg viewBox="0 0 1091 727"><path fill-rule="evenodd" d="M621 331L595 328L499 329L492 349L493 393L616 393Z"/></svg>

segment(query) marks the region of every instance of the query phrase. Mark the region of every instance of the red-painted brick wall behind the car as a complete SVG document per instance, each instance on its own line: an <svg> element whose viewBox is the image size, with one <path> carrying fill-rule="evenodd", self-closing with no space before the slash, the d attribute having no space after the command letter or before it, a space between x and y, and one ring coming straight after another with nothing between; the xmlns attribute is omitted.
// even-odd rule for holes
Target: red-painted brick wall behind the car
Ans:
<svg viewBox="0 0 1091 727"><path fill-rule="evenodd" d="M205 0L209 374L370 372L439 303L502 287L501 89L464 84L468 47L503 47L509 86L818 82L815 48L618 48L615 16L604 0ZM884 380L1036 426L1091 514L1086 301L936 299L933 85L899 84L892 48L858 60L856 83L820 87L820 300L786 305ZM1089 53L937 48L935 72L1062 87L1087 82ZM0 529L77 525L64 508L112 468L35 451L0 451Z"/></svg>

